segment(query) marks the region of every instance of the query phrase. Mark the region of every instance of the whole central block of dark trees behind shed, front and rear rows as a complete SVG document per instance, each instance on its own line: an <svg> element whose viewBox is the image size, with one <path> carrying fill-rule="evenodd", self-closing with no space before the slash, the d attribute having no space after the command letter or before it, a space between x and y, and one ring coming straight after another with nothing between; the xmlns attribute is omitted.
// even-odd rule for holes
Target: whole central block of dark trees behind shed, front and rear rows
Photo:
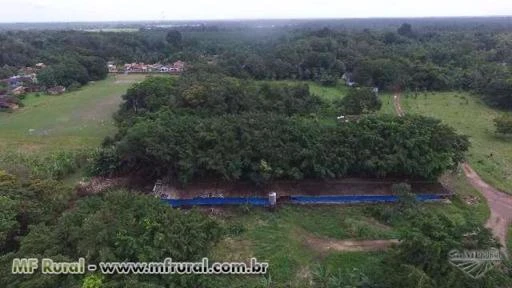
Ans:
<svg viewBox="0 0 512 288"><path fill-rule="evenodd" d="M380 106L369 90L349 94L343 99L359 108ZM123 99L119 133L105 141L95 174L137 171L181 183L200 177L258 184L347 175L434 179L467 149L464 136L430 118L385 115L326 123L321 119L334 116L323 107L335 103L311 95L304 84L254 84L188 72L176 84L144 81Z"/></svg>

